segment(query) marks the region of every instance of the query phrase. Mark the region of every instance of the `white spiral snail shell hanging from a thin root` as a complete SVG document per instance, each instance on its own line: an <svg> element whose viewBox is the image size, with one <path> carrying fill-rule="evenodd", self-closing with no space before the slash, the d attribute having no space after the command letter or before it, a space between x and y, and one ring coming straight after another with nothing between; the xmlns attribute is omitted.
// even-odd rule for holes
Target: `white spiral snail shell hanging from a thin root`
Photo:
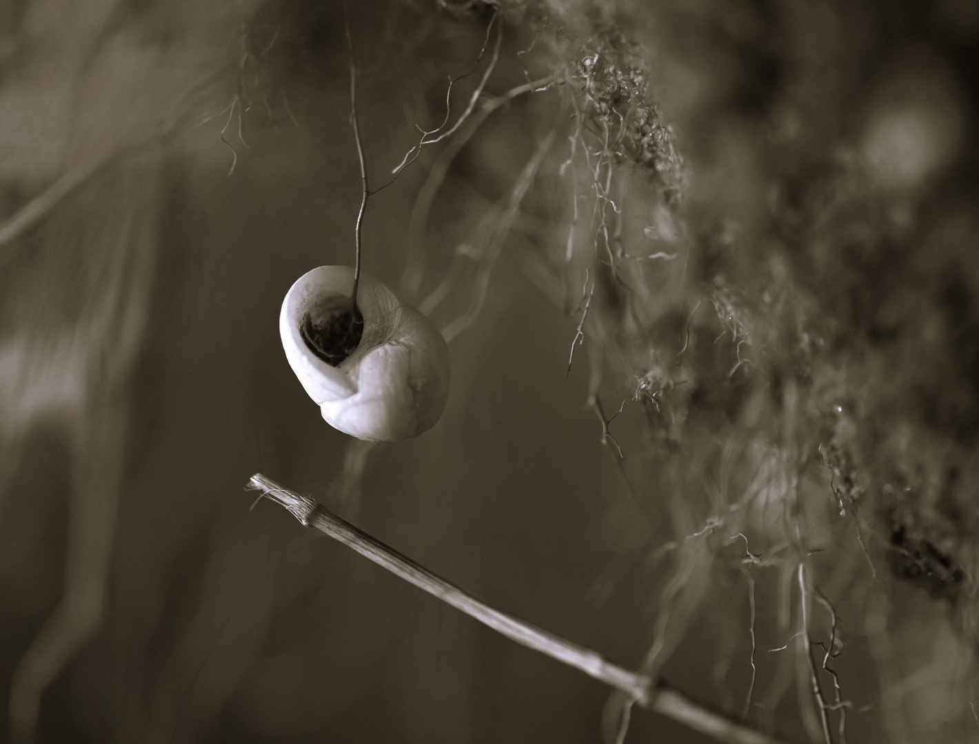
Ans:
<svg viewBox="0 0 979 744"><path fill-rule="evenodd" d="M363 335L350 356L333 367L303 339L301 324L312 306L350 297L352 285L350 266L320 266L292 285L279 315L289 366L334 428L373 442L418 436L439 420L448 397L448 346L428 318L361 273Z"/></svg>

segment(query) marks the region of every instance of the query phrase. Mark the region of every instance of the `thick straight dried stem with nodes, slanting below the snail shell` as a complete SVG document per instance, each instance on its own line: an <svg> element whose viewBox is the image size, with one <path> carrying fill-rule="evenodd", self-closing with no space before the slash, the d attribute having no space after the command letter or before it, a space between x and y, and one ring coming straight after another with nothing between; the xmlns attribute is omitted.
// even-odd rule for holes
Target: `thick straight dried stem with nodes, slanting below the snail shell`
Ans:
<svg viewBox="0 0 979 744"><path fill-rule="evenodd" d="M778 744L778 740L768 734L732 721L691 700L665 681L654 681L645 675L631 672L609 662L595 651L490 607L401 555L394 548L358 530L322 504L283 488L261 473L253 475L246 488L261 492L263 497L288 509L304 526L319 530L356 550L406 582L439 597L497 633L622 690L643 708L683 723L718 741L731 744Z"/></svg>

